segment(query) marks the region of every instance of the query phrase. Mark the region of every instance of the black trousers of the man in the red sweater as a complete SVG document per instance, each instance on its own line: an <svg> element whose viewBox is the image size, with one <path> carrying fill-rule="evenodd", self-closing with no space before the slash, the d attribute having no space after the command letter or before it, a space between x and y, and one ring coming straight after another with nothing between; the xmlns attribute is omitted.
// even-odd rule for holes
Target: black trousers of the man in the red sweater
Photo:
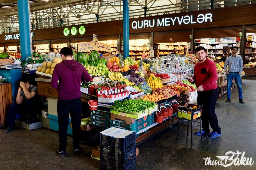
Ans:
<svg viewBox="0 0 256 170"><path fill-rule="evenodd" d="M214 132L220 133L220 127L217 115L215 114L215 105L218 98L218 88L209 91L198 91L197 103L203 105L202 127L205 133L210 133L209 124Z"/></svg>

